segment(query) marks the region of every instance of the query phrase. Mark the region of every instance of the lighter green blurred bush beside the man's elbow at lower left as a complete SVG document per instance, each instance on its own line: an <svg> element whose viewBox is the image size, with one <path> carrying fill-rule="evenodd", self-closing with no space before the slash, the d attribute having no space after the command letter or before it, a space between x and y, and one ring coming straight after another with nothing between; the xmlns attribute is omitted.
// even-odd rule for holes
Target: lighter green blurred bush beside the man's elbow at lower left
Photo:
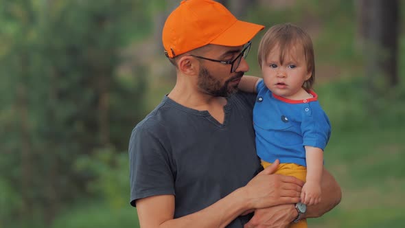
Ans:
<svg viewBox="0 0 405 228"><path fill-rule="evenodd" d="M53 228L139 227L136 210L129 205L128 153L100 149L92 156L82 155L74 169L94 177L86 186L99 203L76 201Z"/></svg>

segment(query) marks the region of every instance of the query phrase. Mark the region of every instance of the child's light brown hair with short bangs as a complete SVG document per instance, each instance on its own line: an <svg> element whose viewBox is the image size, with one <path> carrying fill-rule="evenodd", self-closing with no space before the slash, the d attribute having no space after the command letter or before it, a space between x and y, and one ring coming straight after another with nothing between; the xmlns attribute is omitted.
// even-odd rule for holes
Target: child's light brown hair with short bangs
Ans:
<svg viewBox="0 0 405 228"><path fill-rule="evenodd" d="M312 89L312 85L315 81L315 58L314 47L312 45L310 36L300 27L290 23L270 27L259 43L259 52L257 53L257 58L259 60L260 68L262 68L262 62L266 60L270 51L277 45L279 45L281 52L281 63L284 60L284 54L286 50L288 51L288 48L292 47L293 45L301 45L301 47L303 47L307 69L308 71L312 72L311 78L303 83L303 88L307 91Z"/></svg>

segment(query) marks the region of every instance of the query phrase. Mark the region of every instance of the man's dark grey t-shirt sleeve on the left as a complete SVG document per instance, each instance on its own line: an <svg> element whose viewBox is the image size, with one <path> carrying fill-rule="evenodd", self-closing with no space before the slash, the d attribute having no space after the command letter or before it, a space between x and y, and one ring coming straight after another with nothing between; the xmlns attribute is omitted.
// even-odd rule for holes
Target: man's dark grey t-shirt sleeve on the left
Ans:
<svg viewBox="0 0 405 228"><path fill-rule="evenodd" d="M170 159L161 140L147 128L132 130L129 143L130 204L148 196L175 194Z"/></svg>

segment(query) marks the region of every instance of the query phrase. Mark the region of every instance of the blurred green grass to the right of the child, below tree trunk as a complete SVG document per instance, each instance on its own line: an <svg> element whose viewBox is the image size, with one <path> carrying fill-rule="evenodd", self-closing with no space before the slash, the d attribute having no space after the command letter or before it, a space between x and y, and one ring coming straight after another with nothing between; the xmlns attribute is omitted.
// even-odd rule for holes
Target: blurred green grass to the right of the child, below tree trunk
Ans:
<svg viewBox="0 0 405 228"><path fill-rule="evenodd" d="M333 129L325 150L325 166L342 187L343 198L332 212L310 219L310 227L403 227L405 122L400 119L405 116L405 106L400 99L402 94L396 93L394 99L385 100L378 108L380 111L368 113L358 90L362 81L362 78L351 78L319 88L321 103L325 104Z"/></svg>

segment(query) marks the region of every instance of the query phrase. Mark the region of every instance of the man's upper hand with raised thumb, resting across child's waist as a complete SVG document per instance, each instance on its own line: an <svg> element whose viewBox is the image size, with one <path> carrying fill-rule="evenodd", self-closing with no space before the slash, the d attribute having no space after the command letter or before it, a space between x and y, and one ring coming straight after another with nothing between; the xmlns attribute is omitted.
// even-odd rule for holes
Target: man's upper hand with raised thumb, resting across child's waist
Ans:
<svg viewBox="0 0 405 228"><path fill-rule="evenodd" d="M257 174L244 187L251 205L249 208L259 209L299 202L303 181L293 176L273 174L277 166L279 160Z"/></svg>

